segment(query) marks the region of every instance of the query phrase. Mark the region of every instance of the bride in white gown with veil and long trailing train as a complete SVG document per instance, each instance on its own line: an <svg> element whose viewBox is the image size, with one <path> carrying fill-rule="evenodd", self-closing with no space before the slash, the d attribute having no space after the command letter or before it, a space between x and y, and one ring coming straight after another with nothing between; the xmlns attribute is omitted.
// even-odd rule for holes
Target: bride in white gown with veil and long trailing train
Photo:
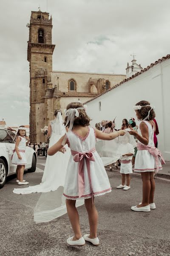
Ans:
<svg viewBox="0 0 170 256"><path fill-rule="evenodd" d="M54 111L54 120L48 125L48 136L50 137L51 135L49 147L54 145L65 133L66 130L62 120L62 112L56 109ZM63 150L65 152L63 152ZM54 156L47 156L42 182L35 186L14 189L13 192L15 194L50 192L57 190L59 186L64 186L65 172L70 155L70 148L65 145L65 148L62 149L61 152L58 152Z"/></svg>

